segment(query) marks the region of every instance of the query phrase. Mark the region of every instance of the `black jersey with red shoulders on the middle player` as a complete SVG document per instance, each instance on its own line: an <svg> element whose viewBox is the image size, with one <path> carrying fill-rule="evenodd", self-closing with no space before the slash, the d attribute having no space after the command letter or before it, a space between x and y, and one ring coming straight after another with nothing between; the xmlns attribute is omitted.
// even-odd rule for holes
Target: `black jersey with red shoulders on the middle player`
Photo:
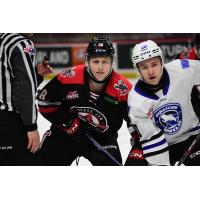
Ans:
<svg viewBox="0 0 200 200"><path fill-rule="evenodd" d="M127 98L131 88L125 77L112 71L103 91L91 92L86 67L78 65L58 74L39 92L39 111L52 124L67 124L78 116L93 132L116 134L123 119L129 124Z"/></svg>

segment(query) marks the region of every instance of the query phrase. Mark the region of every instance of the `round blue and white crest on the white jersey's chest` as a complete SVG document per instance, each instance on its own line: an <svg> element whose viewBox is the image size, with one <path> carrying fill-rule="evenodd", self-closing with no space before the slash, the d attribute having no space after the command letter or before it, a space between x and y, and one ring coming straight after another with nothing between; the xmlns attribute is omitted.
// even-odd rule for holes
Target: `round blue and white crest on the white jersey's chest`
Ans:
<svg viewBox="0 0 200 200"><path fill-rule="evenodd" d="M182 125L182 110L179 103L169 103L156 109L153 113L158 127L168 135L176 134Z"/></svg>

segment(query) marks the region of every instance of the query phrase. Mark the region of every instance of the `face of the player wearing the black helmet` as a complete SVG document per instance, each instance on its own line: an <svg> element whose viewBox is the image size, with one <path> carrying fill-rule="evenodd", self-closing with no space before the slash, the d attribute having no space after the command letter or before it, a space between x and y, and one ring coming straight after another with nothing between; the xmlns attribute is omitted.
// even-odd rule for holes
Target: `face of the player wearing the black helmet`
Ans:
<svg viewBox="0 0 200 200"><path fill-rule="evenodd" d="M102 81L110 73L112 59L109 56L94 57L89 60L90 70L98 81Z"/></svg>

